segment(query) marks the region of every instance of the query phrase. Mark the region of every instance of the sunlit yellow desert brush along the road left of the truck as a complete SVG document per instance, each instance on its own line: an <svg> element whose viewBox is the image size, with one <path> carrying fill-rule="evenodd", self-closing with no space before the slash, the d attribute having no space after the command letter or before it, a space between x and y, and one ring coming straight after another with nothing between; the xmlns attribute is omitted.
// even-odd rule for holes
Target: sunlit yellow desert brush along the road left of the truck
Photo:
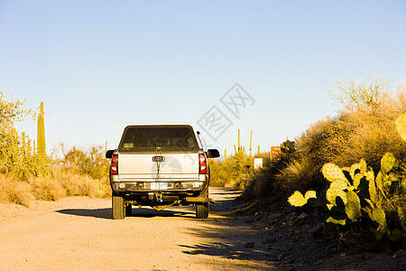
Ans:
<svg viewBox="0 0 406 271"><path fill-rule="evenodd" d="M108 160L101 146L72 147L63 159L37 154L32 140L14 123L34 116L23 101L7 101L0 92L0 201L28 206L32 200L110 194Z"/></svg>

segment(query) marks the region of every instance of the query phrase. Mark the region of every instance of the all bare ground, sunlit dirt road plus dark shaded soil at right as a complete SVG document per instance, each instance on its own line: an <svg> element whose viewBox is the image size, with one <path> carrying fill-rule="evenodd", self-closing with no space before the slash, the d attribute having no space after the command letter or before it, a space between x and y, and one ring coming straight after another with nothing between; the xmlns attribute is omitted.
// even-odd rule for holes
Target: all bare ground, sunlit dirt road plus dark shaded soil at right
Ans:
<svg viewBox="0 0 406 271"><path fill-rule="evenodd" d="M194 207L133 208L111 219L111 201L69 197L0 204L0 270L404 270L406 257L337 251L314 239L308 218L281 204L250 214L231 188L211 188L208 220ZM238 205L239 204L239 205ZM310 220L311 221L311 220Z"/></svg>

